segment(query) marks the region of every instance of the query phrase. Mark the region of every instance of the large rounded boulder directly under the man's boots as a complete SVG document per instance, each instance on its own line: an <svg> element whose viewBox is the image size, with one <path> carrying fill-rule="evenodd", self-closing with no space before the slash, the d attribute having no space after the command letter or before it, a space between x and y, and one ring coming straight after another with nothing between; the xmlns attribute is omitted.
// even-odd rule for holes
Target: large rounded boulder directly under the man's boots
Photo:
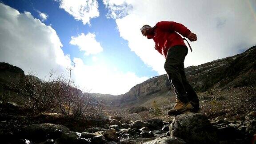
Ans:
<svg viewBox="0 0 256 144"><path fill-rule="evenodd" d="M190 144L218 144L212 124L204 114L188 112L176 116L170 126L170 135Z"/></svg>

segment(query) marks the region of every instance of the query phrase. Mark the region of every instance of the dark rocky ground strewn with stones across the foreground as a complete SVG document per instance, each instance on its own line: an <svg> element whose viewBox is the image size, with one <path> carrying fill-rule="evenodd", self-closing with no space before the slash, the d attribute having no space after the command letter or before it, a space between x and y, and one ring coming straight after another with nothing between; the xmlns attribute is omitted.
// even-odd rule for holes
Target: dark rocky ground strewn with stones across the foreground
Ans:
<svg viewBox="0 0 256 144"><path fill-rule="evenodd" d="M210 95L210 94L209 94ZM106 116L74 120L56 113L30 115L13 103L0 104L1 144L252 144L256 112L246 116L202 113L141 119ZM139 108L143 110L143 108ZM164 114L163 114L164 115ZM137 116L137 117L136 117ZM213 115L212 115L213 116Z"/></svg>

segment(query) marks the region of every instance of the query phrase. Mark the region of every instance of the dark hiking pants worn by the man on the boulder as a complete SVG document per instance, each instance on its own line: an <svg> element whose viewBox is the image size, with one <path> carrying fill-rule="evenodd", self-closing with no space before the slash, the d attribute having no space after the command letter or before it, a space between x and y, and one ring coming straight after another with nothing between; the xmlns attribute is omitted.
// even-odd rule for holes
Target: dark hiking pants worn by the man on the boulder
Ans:
<svg viewBox="0 0 256 144"><path fill-rule="evenodd" d="M188 83L185 75L184 60L187 54L188 48L186 46L177 45L169 48L164 63L164 69L172 84L176 98L183 103L191 101L194 108L199 109L198 96Z"/></svg>

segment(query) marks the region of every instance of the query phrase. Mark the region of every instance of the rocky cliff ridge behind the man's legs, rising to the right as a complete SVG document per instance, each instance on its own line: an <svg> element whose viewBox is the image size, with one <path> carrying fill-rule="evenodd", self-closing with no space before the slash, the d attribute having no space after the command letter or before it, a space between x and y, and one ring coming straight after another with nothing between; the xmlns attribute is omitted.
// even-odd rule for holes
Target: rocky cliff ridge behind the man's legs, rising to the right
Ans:
<svg viewBox="0 0 256 144"><path fill-rule="evenodd" d="M188 81L197 92L211 88L242 87L256 84L256 46L224 59L185 68ZM108 97L106 104L119 106L136 102L153 94L168 92L171 85L166 74L137 84L124 95ZM98 95L101 97L100 95ZM101 97L102 100L104 98ZM106 102L106 100L105 100Z"/></svg>

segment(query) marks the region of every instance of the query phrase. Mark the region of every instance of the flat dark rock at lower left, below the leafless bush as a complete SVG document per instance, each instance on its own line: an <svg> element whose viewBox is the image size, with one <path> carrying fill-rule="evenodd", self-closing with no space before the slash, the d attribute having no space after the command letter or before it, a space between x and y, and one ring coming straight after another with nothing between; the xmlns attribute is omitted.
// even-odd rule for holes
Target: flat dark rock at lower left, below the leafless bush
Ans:
<svg viewBox="0 0 256 144"><path fill-rule="evenodd" d="M57 138L69 129L59 124L32 124L22 129L21 135L30 139Z"/></svg>

